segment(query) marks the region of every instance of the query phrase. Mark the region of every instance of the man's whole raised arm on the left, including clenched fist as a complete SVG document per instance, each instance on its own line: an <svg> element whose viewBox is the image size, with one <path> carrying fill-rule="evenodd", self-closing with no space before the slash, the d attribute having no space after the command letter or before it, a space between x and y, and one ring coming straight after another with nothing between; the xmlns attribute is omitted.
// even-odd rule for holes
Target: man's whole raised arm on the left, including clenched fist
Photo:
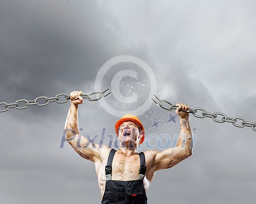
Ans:
<svg viewBox="0 0 256 204"><path fill-rule="evenodd" d="M65 122L65 138L73 149L85 159L99 162L99 145L90 142L85 136L81 136L78 127L78 105L83 102L81 91L70 93L70 108ZM103 147L104 145L102 145Z"/></svg>

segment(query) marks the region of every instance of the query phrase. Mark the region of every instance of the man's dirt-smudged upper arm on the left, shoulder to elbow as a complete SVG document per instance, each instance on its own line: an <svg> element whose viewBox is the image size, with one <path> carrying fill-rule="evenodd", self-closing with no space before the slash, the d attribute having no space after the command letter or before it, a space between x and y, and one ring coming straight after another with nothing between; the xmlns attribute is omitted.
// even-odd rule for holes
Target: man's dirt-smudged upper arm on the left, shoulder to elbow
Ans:
<svg viewBox="0 0 256 204"><path fill-rule="evenodd" d="M85 136L73 136L68 143L83 158L92 162L99 159L99 145L89 141Z"/></svg>

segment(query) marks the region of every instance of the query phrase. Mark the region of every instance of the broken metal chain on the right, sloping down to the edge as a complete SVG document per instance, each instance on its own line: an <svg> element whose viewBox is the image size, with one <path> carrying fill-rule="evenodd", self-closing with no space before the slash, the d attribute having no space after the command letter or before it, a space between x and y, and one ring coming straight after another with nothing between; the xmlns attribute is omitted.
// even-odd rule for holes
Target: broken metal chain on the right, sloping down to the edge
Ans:
<svg viewBox="0 0 256 204"><path fill-rule="evenodd" d="M158 99L157 96L154 95L155 98L151 98L153 102L155 102L160 108L168 111L172 111L176 109L178 106L177 105L172 105L172 103L167 102L165 100L160 100ZM168 107L164 107L163 103L166 103ZM198 111L201 111L201 113L197 113ZM203 119L205 117L213 119L215 122L223 123L223 122L231 122L233 125L236 127L251 127L254 131L256 131L256 121L255 122L248 122L246 119L240 118L240 117L227 117L224 113L209 113L203 108L190 108L188 111L184 111L187 113L192 113L193 116L196 118ZM217 119L219 116L219 119ZM222 118L220 118L222 117ZM240 124L237 122L238 120L241 120Z"/></svg>

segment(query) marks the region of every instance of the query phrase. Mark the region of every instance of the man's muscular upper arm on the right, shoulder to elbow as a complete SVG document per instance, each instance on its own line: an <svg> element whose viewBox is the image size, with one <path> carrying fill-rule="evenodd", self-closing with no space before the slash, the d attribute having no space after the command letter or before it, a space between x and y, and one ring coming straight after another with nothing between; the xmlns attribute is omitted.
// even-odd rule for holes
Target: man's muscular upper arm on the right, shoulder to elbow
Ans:
<svg viewBox="0 0 256 204"><path fill-rule="evenodd" d="M184 148L174 147L163 150L156 154L154 159L155 170L169 169L187 158Z"/></svg>

